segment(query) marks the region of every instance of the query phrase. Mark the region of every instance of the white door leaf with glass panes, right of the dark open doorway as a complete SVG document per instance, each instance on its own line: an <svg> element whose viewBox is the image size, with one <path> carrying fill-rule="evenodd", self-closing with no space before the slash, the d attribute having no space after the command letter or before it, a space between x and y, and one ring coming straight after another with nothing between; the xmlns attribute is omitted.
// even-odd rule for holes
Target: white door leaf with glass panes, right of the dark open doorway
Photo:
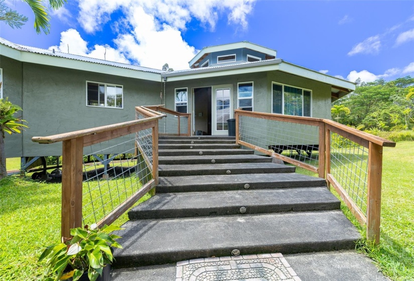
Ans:
<svg viewBox="0 0 414 281"><path fill-rule="evenodd" d="M232 85L212 89L212 134L227 135L227 120L233 118Z"/></svg>

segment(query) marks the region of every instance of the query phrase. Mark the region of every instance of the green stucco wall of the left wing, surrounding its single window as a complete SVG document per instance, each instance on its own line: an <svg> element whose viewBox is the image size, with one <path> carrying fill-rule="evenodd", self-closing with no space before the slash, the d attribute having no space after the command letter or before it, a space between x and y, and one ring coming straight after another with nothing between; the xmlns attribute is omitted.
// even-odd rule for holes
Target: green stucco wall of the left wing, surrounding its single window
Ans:
<svg viewBox="0 0 414 281"><path fill-rule="evenodd" d="M10 65L3 67L5 74L10 69ZM31 138L133 120L135 106L160 103L161 82L31 63L21 64L20 73L23 117L30 128L22 135L23 151L7 139L7 157L61 155L61 143L40 145ZM122 85L123 109L86 106L86 81Z"/></svg>

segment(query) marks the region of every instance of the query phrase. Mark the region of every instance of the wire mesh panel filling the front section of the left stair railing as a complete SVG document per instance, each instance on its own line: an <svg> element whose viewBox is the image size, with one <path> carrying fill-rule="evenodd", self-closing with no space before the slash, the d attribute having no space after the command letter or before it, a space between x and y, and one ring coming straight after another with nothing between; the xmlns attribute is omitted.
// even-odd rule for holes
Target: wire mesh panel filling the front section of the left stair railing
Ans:
<svg viewBox="0 0 414 281"><path fill-rule="evenodd" d="M151 128L84 147L83 154L83 225L101 221L152 180Z"/></svg>

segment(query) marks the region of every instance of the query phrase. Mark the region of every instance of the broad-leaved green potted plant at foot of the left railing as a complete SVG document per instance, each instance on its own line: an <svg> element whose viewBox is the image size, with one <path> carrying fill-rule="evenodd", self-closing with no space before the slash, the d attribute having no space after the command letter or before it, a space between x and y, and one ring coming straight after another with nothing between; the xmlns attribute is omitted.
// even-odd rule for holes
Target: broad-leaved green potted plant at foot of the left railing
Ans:
<svg viewBox="0 0 414 281"><path fill-rule="evenodd" d="M71 229L71 238L62 237L61 243L48 246L40 256L39 261L45 260L48 266L45 281L102 279L103 270L109 274L113 261L111 247L122 248L115 241L120 237L109 233L121 229L114 225L98 229L96 224Z"/></svg>

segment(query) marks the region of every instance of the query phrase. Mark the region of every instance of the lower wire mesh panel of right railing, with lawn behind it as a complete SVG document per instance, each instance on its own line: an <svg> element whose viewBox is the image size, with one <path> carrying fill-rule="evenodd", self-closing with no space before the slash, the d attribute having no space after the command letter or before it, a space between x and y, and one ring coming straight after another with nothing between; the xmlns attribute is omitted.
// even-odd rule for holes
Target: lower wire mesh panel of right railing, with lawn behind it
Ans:
<svg viewBox="0 0 414 281"><path fill-rule="evenodd" d="M331 132L331 175L365 214L368 187L368 149Z"/></svg>

